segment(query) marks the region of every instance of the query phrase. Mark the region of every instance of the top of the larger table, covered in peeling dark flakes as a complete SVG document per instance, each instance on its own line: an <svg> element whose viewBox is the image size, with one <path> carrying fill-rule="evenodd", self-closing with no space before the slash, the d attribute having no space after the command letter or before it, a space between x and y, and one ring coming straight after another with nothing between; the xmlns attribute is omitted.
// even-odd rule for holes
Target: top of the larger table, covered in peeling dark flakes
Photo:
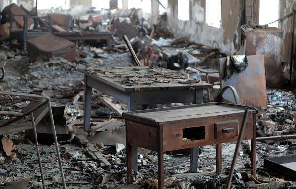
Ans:
<svg viewBox="0 0 296 189"><path fill-rule="evenodd" d="M212 84L185 79L185 76L177 71L159 67L89 67L78 70L125 92L212 88Z"/></svg>

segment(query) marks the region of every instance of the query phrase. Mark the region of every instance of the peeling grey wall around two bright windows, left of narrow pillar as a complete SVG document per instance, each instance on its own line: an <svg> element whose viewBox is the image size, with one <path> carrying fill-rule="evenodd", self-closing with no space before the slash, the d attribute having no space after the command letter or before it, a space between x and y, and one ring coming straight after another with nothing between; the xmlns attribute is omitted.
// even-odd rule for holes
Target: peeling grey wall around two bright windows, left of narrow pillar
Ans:
<svg viewBox="0 0 296 189"><path fill-rule="evenodd" d="M205 23L205 0L189 0L189 20L178 19L178 0L168 2L168 30L176 37L189 37L196 43L221 48L226 53L239 49L243 1L222 0L221 28Z"/></svg>

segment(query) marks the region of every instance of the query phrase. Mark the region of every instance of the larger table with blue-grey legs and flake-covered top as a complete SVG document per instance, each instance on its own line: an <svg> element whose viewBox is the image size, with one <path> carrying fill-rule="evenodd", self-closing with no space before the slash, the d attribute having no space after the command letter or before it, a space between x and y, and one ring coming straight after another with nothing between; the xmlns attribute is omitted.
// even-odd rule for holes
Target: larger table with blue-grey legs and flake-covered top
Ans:
<svg viewBox="0 0 296 189"><path fill-rule="evenodd" d="M90 131L90 110L92 88L111 95L128 104L128 110L138 110L138 105L167 103L203 103L204 89L212 85L185 79L177 71L164 68L137 67L90 67L78 69L84 73L84 130ZM132 147L133 156L138 156L137 147ZM194 155L195 154L195 155ZM197 159L198 148L192 150ZM137 171L137 158L133 169ZM196 172L197 160L191 166Z"/></svg>

